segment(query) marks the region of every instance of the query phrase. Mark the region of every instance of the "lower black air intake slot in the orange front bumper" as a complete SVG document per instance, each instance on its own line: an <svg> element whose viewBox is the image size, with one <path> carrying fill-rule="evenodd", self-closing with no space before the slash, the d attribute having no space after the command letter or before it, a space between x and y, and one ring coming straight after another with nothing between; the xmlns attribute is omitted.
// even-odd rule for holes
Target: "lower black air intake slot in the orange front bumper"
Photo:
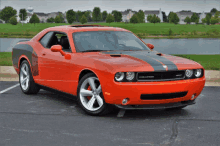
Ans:
<svg viewBox="0 0 220 146"><path fill-rule="evenodd" d="M175 92L175 93L163 93L163 94L141 94L142 100L160 100L160 99L172 99L186 96L188 92Z"/></svg>

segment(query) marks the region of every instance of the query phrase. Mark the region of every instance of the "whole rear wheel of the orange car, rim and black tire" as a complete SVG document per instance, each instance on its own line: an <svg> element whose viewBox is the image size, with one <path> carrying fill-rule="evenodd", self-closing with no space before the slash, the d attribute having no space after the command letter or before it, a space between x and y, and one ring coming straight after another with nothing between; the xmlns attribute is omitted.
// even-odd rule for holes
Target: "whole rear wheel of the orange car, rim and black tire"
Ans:
<svg viewBox="0 0 220 146"><path fill-rule="evenodd" d="M22 92L25 94L37 94L40 90L40 87L34 82L27 60L22 61L20 65L19 83Z"/></svg>

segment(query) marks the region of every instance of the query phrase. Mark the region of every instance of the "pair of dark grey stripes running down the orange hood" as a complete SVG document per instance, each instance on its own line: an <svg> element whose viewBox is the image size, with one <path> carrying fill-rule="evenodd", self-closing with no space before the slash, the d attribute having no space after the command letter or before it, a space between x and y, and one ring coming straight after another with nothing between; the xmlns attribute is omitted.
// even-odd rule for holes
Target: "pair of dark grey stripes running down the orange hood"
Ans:
<svg viewBox="0 0 220 146"><path fill-rule="evenodd" d="M156 55L155 52L148 52L148 51L117 51L117 52L102 52L105 54L123 54L129 55L138 59L141 59L148 64L150 64L154 71L166 71L163 65L168 67L168 70L178 70L177 66L170 60Z"/></svg>

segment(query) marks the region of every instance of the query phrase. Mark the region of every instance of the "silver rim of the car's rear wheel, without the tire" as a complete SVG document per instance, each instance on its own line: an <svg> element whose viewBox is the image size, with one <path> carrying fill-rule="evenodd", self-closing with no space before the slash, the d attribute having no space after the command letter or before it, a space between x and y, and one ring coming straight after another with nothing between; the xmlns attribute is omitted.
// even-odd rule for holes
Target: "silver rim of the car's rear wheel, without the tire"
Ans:
<svg viewBox="0 0 220 146"><path fill-rule="evenodd" d="M20 70L20 84L23 90L27 90L30 84L29 80L30 80L29 68L27 64L24 63L22 64L21 70Z"/></svg>

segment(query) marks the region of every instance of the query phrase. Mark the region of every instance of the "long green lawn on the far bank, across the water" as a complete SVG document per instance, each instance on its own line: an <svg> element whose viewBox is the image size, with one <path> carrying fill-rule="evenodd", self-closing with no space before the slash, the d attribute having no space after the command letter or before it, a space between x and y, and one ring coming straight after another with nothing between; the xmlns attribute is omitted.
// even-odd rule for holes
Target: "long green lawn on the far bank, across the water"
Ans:
<svg viewBox="0 0 220 146"><path fill-rule="evenodd" d="M94 24L125 28L134 32L141 38L220 38L220 25L175 25L170 23L125 24L122 22ZM68 24L39 23L35 24L35 26L34 24L23 24L22 26L20 23L18 25L0 24L0 37L31 38L45 28L59 25ZM169 29L172 30L171 36L168 36Z"/></svg>

